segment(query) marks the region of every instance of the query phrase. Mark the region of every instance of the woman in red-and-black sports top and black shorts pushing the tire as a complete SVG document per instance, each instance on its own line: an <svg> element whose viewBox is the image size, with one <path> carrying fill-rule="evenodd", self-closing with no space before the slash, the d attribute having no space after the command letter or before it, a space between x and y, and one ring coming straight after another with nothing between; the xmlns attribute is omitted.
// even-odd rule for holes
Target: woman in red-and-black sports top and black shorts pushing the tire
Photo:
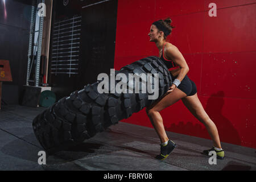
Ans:
<svg viewBox="0 0 256 182"><path fill-rule="evenodd" d="M197 97L195 83L187 76L189 71L188 65L179 49L173 44L166 42L166 37L174 28L171 26L171 22L170 18L158 20L152 23L148 33L150 42L155 42L156 47L159 49L159 57L166 64L173 80L173 84L168 92L150 107L146 108L147 115L161 141L160 155L156 156L156 158L160 160L166 159L176 147L176 144L169 140L166 135L163 119L159 112L181 99L188 110L204 124L213 140L213 148L203 151L204 154L208 155L210 151L215 151L218 159L224 159L224 151L221 148L217 127L201 105Z"/></svg>

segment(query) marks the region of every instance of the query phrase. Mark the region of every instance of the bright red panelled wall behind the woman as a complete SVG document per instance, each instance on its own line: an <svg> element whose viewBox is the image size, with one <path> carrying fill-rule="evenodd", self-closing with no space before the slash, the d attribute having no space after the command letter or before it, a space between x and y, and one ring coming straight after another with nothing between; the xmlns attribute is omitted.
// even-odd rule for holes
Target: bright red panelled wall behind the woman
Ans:
<svg viewBox="0 0 256 182"><path fill-rule="evenodd" d="M212 2L217 17L208 15ZM168 39L185 57L221 142L256 148L256 1L119 0L114 68L157 56L147 34L168 16L175 26ZM167 131L209 138L181 101L161 114ZM145 109L122 122L152 127Z"/></svg>

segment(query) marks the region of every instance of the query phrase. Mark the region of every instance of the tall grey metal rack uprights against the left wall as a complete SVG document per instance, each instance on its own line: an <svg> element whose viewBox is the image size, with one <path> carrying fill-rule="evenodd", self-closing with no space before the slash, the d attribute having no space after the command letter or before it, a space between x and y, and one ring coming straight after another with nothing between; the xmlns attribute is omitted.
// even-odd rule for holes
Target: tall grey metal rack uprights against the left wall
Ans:
<svg viewBox="0 0 256 182"><path fill-rule="evenodd" d="M41 57L41 49L42 49L43 20L44 20L43 16L40 16L39 18L37 18L38 11L39 11L38 9L39 3L44 3L44 0L32 1L32 8L31 8L30 42L28 47L28 63L27 63L27 85L31 85L31 86L39 86L40 57ZM38 23L38 26L36 26L37 23ZM38 28L38 30L36 30L36 28ZM35 36L36 32L38 32L37 38ZM31 78L33 65L35 65L34 80L32 80L33 78Z"/></svg>

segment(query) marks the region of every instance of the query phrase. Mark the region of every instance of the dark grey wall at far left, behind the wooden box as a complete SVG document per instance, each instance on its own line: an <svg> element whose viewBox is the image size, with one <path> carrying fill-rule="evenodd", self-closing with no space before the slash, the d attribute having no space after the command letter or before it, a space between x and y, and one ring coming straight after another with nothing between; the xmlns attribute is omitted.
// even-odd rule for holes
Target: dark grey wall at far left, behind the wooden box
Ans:
<svg viewBox="0 0 256 182"><path fill-rule="evenodd" d="M26 84L27 54L30 32L30 1L0 3L0 59L9 60L13 82L3 82L2 99L7 104L18 104L22 87Z"/></svg>

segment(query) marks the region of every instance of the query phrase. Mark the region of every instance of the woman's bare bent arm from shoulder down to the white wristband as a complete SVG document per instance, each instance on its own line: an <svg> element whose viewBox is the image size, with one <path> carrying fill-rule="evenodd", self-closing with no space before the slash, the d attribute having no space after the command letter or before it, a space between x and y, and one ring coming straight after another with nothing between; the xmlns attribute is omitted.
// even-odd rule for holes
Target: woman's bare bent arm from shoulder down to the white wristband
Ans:
<svg viewBox="0 0 256 182"><path fill-rule="evenodd" d="M165 53L167 59L174 61L174 63L180 67L180 73L177 76L177 79L181 82L189 71L187 62L185 61L183 55L181 54L177 47L172 46L170 44L167 44L166 46L167 47Z"/></svg>

